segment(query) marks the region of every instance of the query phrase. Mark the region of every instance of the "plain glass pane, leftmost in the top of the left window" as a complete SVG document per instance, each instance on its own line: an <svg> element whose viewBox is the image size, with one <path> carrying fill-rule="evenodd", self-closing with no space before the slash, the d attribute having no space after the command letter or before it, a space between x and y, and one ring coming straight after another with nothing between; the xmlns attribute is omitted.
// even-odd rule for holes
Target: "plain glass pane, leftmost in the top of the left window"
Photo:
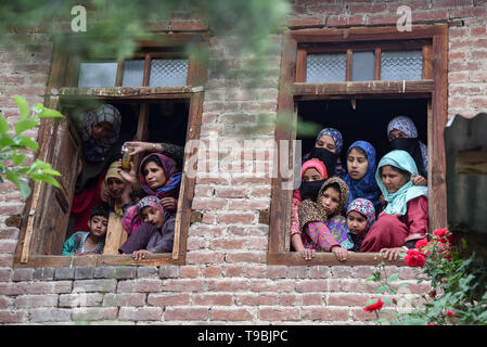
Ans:
<svg viewBox="0 0 487 347"><path fill-rule="evenodd" d="M117 62L90 62L79 66L78 87L115 87Z"/></svg>

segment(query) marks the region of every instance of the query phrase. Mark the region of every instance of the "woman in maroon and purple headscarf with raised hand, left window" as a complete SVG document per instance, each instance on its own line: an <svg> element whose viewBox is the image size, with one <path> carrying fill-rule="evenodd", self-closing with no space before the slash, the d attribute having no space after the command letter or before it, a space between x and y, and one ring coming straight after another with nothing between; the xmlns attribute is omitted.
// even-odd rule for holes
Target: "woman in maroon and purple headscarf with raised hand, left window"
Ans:
<svg viewBox="0 0 487 347"><path fill-rule="evenodd" d="M178 171L172 160L159 153L151 153L145 156L139 166L139 180L137 179L133 163L130 163L130 171L120 170L124 180L133 187L142 185L143 191L151 196L161 200L162 206L176 211L181 183L181 172ZM121 221L125 230L130 235L140 226L134 218L134 206L127 208Z"/></svg>

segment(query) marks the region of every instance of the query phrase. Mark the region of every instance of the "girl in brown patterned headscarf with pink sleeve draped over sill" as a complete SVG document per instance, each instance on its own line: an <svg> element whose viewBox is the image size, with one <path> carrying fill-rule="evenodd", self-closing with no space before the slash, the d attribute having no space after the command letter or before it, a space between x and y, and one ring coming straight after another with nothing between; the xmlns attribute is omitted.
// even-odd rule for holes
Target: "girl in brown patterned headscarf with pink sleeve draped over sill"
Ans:
<svg viewBox="0 0 487 347"><path fill-rule="evenodd" d="M328 179L321 187L317 202L299 205L303 244L318 252L332 252L341 261L347 259L351 247L347 239L346 219L341 216L348 200L348 187L338 177Z"/></svg>

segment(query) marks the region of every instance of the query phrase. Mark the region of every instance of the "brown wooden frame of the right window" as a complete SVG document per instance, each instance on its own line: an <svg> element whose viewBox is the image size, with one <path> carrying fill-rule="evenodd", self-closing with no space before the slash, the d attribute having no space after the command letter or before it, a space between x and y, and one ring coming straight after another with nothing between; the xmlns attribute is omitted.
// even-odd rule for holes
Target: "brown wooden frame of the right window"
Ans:
<svg viewBox="0 0 487 347"><path fill-rule="evenodd" d="M448 26L446 24L414 25L411 31L398 31L396 27L361 27L344 29L299 29L289 30L283 35L283 52L281 61L281 79L278 98L278 117L282 124L292 124L295 129L297 120L297 102L302 100L323 99L379 99L379 98L427 98L427 155L428 177L428 229L445 228L446 209L446 159L444 129L447 123L448 106ZM379 80L377 62L373 81L348 81L330 83L307 83L306 55L307 48L312 52L320 47L335 44L346 50L349 47L381 49L381 47L408 48L416 42L431 42L423 48L422 80L387 81ZM370 42L373 42L372 44ZM313 48L317 47L317 48ZM377 56L377 55L376 55ZM348 64L351 64L348 56ZM348 66L347 69L349 69ZM289 153L293 152L293 140L296 133L292 129L277 129L274 139L278 143L285 140ZM280 159L280 155L275 156ZM289 156L283 166L293 167L294 155ZM278 163L277 167L281 167ZM269 265L287 266L356 266L377 265L384 259L379 253L353 253L344 262L338 261L331 253L318 253L312 260L304 260L298 252L290 252L290 226L292 210L292 190L283 190L287 182L278 171L272 179L269 253ZM389 265L405 266L403 260L387 261Z"/></svg>

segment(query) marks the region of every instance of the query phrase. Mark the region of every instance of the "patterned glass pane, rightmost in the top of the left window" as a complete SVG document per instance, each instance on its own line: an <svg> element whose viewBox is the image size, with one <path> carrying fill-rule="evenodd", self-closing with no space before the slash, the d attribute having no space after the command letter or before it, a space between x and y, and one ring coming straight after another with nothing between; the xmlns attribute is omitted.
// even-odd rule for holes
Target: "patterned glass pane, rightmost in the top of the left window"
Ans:
<svg viewBox="0 0 487 347"><path fill-rule="evenodd" d="M150 87L185 86L188 78L187 59L153 59L151 61Z"/></svg>

